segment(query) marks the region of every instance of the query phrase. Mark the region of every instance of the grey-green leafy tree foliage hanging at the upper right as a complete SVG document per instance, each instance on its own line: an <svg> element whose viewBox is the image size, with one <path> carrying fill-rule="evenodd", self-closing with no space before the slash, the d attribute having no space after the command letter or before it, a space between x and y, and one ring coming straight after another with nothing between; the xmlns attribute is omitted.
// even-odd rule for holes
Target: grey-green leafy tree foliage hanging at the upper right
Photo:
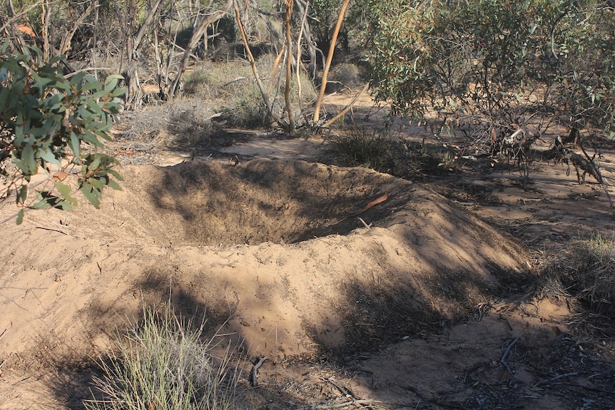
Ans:
<svg viewBox="0 0 615 410"><path fill-rule="evenodd" d="M615 11L602 1L429 1L382 9L372 88L496 140L528 123L615 131Z"/></svg>

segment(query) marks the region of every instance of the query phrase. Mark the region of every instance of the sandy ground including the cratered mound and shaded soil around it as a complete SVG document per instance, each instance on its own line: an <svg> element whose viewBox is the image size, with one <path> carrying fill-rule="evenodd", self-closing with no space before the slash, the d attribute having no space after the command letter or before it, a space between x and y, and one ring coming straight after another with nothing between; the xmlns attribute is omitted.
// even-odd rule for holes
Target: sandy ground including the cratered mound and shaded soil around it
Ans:
<svg viewBox="0 0 615 410"><path fill-rule="evenodd" d="M531 296L547 253L614 232L599 185L547 163L531 190L504 168L412 183L319 163L322 142L167 153L100 210L1 226L0 409L82 409L91 358L165 303L247 371L268 358L243 408L615 408L612 333Z"/></svg>

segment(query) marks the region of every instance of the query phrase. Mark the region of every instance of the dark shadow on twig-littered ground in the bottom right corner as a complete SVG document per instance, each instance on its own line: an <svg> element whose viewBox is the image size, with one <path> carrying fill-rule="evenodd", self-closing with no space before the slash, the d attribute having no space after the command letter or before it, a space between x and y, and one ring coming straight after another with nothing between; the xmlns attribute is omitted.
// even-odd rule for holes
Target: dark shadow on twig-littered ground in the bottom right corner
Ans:
<svg viewBox="0 0 615 410"><path fill-rule="evenodd" d="M390 409L613 408L615 364L526 303L351 362L354 391Z"/></svg>

